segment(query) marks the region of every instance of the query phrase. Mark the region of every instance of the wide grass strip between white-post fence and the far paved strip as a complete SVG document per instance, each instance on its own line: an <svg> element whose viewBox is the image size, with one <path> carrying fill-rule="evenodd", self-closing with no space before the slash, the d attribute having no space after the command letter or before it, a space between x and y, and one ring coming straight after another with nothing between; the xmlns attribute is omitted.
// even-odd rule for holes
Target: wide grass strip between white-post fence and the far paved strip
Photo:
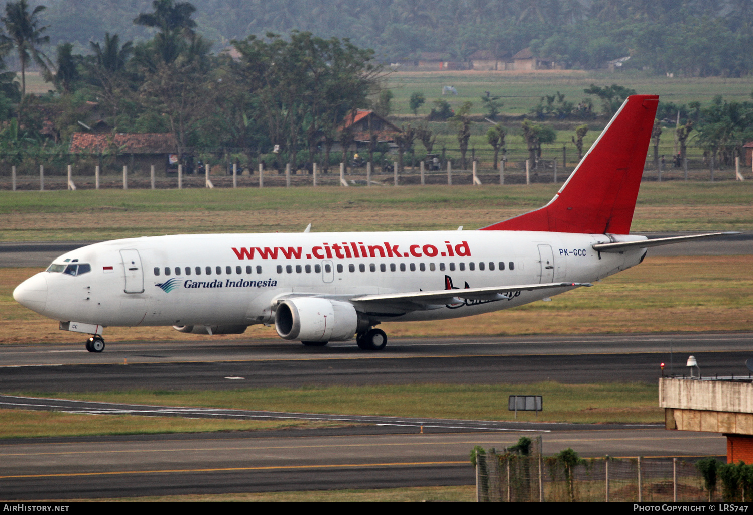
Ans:
<svg viewBox="0 0 753 515"><path fill-rule="evenodd" d="M0 241L175 233L477 229L547 203L557 184L0 191ZM753 181L644 182L633 232L753 230Z"/></svg>

